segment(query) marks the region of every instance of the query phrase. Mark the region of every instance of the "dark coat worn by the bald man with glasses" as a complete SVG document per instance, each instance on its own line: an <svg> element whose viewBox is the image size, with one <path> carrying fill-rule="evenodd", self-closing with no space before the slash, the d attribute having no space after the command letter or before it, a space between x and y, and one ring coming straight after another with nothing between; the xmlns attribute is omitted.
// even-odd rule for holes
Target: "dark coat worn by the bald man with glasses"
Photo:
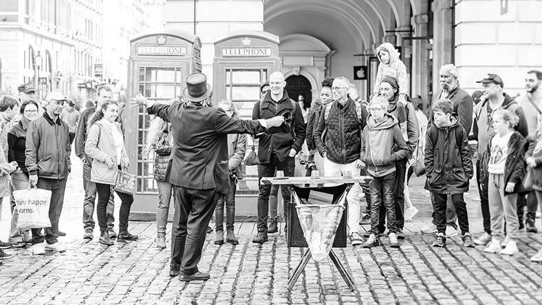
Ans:
<svg viewBox="0 0 542 305"><path fill-rule="evenodd" d="M293 130L290 130L290 133L263 134L259 137L258 159L262 165L270 162L272 151L277 154L279 162L284 162L289 158L288 154L290 154L290 149L293 148L296 152L301 151L301 146L305 141L305 122L303 121L303 115L301 115L301 108L299 105L290 102L290 97L288 97L288 92L286 92L286 90L283 91L282 99L278 102L272 100L270 91L265 94L261 103L254 104L254 108L252 109L252 120L272 118L274 116L280 116L285 112L290 112L292 114L295 113L295 121L292 121L291 129ZM277 105L277 107L275 107L275 105ZM296 109L294 109L294 107L296 107Z"/></svg>

